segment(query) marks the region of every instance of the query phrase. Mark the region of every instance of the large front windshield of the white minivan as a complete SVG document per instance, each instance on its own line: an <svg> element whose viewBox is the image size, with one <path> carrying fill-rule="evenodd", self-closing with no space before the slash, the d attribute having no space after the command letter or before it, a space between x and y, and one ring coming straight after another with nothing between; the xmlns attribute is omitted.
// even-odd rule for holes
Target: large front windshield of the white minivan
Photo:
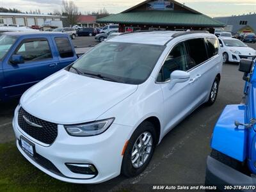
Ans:
<svg viewBox="0 0 256 192"><path fill-rule="evenodd" d="M164 48L163 45L102 42L67 70L106 81L141 84L150 76Z"/></svg>

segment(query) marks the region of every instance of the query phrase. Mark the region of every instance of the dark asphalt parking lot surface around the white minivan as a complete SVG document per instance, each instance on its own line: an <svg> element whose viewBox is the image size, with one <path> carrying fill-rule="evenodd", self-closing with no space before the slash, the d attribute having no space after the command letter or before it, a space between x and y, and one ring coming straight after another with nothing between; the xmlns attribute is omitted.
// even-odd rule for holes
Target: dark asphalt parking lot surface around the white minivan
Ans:
<svg viewBox="0 0 256 192"><path fill-rule="evenodd" d="M74 40L74 43L77 46L97 44L93 37L78 37ZM256 44L248 45L254 49L256 48ZM127 179L119 176L98 185L73 185L58 182L58 186L60 188L65 186L67 190L105 191L108 189L116 191L123 188L134 189L134 186L129 184L204 184L205 159L211 151L209 143L214 124L227 104L239 104L243 97L243 74L237 68L237 65L232 63L223 65L220 92L216 103L211 107L201 106L196 109L195 112L169 132L162 143L157 146L147 170L138 177ZM18 100L13 100L0 104L0 143L14 141L11 122L13 110L17 103ZM0 147L1 145L4 144L0 144ZM19 153L15 158L17 158L15 161L21 161L20 159L22 159L22 162L24 161ZM24 161L24 164L30 167L27 161ZM41 174L33 166L31 166L31 169L33 174ZM44 177L50 180L47 175ZM0 184L1 179L4 178L0 177ZM29 180L25 183L29 184ZM22 183L19 184L22 185ZM49 181L47 186L51 186L51 184ZM144 190L152 189L152 186L136 185L137 190L140 188Z"/></svg>

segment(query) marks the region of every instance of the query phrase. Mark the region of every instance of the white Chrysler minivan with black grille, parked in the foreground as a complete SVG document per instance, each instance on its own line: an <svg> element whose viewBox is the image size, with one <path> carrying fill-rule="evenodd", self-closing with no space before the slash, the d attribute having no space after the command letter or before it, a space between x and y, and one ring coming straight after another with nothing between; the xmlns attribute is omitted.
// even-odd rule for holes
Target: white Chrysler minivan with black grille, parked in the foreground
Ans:
<svg viewBox="0 0 256 192"><path fill-rule="evenodd" d="M13 118L17 148L65 182L136 176L175 125L215 102L221 68L209 33L115 36L22 95Z"/></svg>

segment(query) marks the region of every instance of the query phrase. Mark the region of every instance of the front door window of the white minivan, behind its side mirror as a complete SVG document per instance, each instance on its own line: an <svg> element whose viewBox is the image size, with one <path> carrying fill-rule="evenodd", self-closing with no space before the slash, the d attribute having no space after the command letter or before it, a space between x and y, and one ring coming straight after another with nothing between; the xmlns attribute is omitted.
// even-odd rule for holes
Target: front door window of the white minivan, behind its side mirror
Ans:
<svg viewBox="0 0 256 192"><path fill-rule="evenodd" d="M175 70L188 70L184 42L176 45L172 49L157 76L157 82L161 83L170 80L170 76Z"/></svg>

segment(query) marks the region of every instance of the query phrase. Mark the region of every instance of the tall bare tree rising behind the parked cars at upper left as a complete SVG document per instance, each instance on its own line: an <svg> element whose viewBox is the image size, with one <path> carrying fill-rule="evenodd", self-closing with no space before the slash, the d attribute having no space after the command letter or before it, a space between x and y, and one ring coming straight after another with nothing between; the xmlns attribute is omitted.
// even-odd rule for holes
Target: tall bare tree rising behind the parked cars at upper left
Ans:
<svg viewBox="0 0 256 192"><path fill-rule="evenodd" d="M67 21L70 25L77 24L78 7L74 1L62 1L62 15L67 16Z"/></svg>

